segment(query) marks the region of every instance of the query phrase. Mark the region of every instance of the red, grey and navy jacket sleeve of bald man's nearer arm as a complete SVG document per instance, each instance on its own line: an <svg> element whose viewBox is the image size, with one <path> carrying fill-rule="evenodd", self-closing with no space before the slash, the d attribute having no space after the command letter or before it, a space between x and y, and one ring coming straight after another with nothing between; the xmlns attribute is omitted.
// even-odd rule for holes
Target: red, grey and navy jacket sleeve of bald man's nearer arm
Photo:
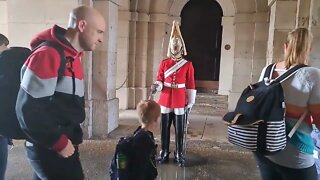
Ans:
<svg viewBox="0 0 320 180"><path fill-rule="evenodd" d="M57 85L60 56L52 48L38 49L21 69L16 113L22 130L31 142L61 151L68 137L61 132L59 112L50 108ZM42 51L41 51L42 50ZM51 51L50 51L51 50Z"/></svg>

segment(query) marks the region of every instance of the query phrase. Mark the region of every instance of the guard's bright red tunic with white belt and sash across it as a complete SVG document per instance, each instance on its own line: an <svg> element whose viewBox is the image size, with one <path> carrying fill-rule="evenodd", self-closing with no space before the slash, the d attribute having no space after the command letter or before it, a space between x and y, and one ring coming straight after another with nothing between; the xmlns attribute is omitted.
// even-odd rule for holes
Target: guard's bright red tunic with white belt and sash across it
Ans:
<svg viewBox="0 0 320 180"><path fill-rule="evenodd" d="M179 61L174 61L171 58L161 61L157 75L157 81L162 83L185 84L185 88L171 88L163 85L159 104L167 108L184 108L186 106L186 89L195 89L194 69L190 61L164 79L164 72L177 62Z"/></svg>

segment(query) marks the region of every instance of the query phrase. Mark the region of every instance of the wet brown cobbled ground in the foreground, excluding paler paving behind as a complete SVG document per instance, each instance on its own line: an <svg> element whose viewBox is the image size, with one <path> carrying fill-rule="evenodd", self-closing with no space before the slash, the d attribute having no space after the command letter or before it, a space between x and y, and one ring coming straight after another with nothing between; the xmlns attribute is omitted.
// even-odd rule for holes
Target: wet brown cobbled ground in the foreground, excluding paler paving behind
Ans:
<svg viewBox="0 0 320 180"><path fill-rule="evenodd" d="M80 147L81 160L86 178L106 180L116 139L87 140ZM173 147L173 144L171 144ZM188 142L186 167L169 164L158 165L159 180L258 180L259 173L250 152L236 149L229 144L212 141ZM172 154L171 154L172 155ZM15 142L10 151L7 171L8 180L32 179L32 170L24 153L23 142Z"/></svg>

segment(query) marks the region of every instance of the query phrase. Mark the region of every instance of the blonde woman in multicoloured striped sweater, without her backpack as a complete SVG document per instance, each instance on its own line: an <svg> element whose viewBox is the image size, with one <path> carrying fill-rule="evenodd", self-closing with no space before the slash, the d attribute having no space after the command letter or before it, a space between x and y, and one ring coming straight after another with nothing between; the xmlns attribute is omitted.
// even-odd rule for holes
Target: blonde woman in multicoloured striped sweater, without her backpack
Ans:
<svg viewBox="0 0 320 180"><path fill-rule="evenodd" d="M272 79L295 65L307 65L311 42L312 34L306 28L289 32L284 44L284 59L276 64ZM320 127L320 70L314 67L300 68L282 83L282 87L287 132L290 132L304 112L308 114L293 136L288 138L284 150L274 155L254 153L261 177L263 180L317 180L314 144L310 133L312 124Z"/></svg>

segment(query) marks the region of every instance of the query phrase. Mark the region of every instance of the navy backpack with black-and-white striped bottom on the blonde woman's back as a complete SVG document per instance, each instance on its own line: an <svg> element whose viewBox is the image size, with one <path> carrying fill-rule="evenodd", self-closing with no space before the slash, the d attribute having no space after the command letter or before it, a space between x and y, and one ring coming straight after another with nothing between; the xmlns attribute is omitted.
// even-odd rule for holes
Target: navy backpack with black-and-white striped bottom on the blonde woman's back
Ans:
<svg viewBox="0 0 320 180"><path fill-rule="evenodd" d="M266 68L262 81L245 88L236 109L223 117L228 124L229 142L266 155L283 150L287 134L281 83L305 66L296 65L272 79L275 64L271 64Z"/></svg>

